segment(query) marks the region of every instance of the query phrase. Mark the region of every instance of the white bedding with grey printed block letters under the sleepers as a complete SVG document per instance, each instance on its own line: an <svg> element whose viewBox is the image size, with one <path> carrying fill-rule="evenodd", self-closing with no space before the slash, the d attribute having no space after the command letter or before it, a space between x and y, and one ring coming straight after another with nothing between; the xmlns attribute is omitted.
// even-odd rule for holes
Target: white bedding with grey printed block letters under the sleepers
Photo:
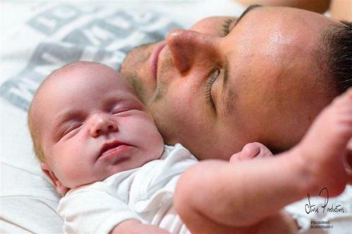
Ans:
<svg viewBox="0 0 352 234"><path fill-rule="evenodd" d="M62 233L59 194L40 170L26 122L33 93L47 74L78 60L119 69L136 45L161 40L172 28L187 28L206 16L238 16L242 10L225 0L1 1L0 233ZM329 199L344 213L307 214L307 199L286 210L298 218L302 232L352 233L351 198L347 187ZM312 220L331 221L334 228L312 229Z"/></svg>

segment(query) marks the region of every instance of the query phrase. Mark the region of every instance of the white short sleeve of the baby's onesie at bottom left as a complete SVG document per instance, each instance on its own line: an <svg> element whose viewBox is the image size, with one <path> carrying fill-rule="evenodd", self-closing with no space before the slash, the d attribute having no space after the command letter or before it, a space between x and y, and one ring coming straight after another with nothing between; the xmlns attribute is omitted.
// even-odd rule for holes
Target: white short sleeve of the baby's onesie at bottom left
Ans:
<svg viewBox="0 0 352 234"><path fill-rule="evenodd" d="M64 219L64 233L110 233L122 221L140 220L123 199L89 187L66 194L58 212Z"/></svg>

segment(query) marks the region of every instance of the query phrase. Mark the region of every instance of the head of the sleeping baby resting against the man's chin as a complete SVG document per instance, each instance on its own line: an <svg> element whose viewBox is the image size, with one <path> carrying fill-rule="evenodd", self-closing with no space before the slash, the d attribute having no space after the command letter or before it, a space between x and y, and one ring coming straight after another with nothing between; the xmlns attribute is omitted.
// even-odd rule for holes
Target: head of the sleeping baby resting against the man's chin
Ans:
<svg viewBox="0 0 352 234"><path fill-rule="evenodd" d="M42 170L61 194L163 152L163 139L129 83L93 62L50 74L35 93L28 126Z"/></svg>

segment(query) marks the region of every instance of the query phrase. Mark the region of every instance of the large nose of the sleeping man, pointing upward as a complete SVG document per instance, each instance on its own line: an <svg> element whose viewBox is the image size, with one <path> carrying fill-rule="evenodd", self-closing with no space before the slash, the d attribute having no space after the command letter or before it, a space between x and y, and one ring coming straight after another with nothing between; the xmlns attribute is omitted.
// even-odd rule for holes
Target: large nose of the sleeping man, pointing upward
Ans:
<svg viewBox="0 0 352 234"><path fill-rule="evenodd" d="M216 60L218 37L192 30L174 29L166 38L172 54L172 61L180 73L192 68L196 63L203 64Z"/></svg>

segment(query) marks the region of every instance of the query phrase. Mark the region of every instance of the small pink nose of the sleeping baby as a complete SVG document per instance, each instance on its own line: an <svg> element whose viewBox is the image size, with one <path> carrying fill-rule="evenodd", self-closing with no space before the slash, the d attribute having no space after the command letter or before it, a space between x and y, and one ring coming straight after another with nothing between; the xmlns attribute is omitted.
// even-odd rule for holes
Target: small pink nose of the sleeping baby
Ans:
<svg viewBox="0 0 352 234"><path fill-rule="evenodd" d="M105 113L96 113L90 119L90 135L98 137L104 134L109 134L112 131L117 131L117 123Z"/></svg>

